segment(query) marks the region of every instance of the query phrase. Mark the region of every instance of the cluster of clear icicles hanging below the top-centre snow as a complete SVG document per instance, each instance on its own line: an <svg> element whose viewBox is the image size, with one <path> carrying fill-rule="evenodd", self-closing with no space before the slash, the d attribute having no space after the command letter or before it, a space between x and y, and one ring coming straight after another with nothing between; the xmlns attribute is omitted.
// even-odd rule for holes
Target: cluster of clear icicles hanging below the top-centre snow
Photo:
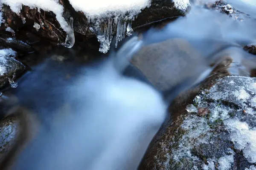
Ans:
<svg viewBox="0 0 256 170"><path fill-rule="evenodd" d="M118 41L121 41L125 38L125 34L127 36L131 36L133 33L133 29L131 28L131 23L135 19L135 16L117 16L117 17L109 17L107 19L104 18L96 18L90 20L90 30L94 32L97 36L97 39L100 43L99 52L107 53L110 49L112 36L112 30L117 29L116 31L116 43L117 47Z"/></svg>

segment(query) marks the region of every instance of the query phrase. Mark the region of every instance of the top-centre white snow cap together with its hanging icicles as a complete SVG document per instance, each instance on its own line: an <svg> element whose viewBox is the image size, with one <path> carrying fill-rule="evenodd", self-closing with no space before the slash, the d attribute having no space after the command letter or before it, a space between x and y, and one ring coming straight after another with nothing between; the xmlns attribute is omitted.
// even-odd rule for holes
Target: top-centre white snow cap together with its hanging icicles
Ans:
<svg viewBox="0 0 256 170"><path fill-rule="evenodd" d="M84 12L90 21L90 30L96 34L100 43L99 51L107 53L113 38L113 27L117 29L116 43L125 35L132 35L132 21L142 9L149 7L151 0L70 0L76 11Z"/></svg>

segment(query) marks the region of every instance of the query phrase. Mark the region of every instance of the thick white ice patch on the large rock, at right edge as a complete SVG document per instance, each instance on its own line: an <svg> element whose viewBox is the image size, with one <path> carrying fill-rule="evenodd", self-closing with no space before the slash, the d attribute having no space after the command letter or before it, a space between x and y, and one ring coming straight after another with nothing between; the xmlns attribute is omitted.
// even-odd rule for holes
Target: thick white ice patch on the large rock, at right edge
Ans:
<svg viewBox="0 0 256 170"><path fill-rule="evenodd" d="M230 130L235 148L243 150L244 157L250 163L256 163L256 130L250 129L247 123L236 119L226 120L224 124Z"/></svg>

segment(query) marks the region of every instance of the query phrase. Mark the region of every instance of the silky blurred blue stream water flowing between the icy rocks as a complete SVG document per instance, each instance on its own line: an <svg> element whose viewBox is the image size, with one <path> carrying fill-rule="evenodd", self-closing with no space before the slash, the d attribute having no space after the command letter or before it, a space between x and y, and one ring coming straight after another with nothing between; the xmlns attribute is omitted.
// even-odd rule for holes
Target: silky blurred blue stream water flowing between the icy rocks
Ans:
<svg viewBox="0 0 256 170"><path fill-rule="evenodd" d="M186 17L142 32L142 46L124 73L112 61L129 58L134 46L90 62L97 53L52 52L5 92L39 122L14 169L136 169L166 118L166 98L200 83L227 58L231 74L251 75L256 58L243 46L256 42L255 28L254 20L192 8Z"/></svg>

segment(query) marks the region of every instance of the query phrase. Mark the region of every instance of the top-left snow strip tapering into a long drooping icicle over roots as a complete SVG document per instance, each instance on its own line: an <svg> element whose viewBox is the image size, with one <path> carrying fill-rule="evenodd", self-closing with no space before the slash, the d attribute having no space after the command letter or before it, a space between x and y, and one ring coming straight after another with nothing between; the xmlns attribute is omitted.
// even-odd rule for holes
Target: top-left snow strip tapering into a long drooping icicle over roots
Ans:
<svg viewBox="0 0 256 170"><path fill-rule="evenodd" d="M20 15L22 5L29 6L30 8L43 9L44 11L52 11L56 15L56 20L60 24L61 28L67 33L65 43L61 45L71 48L75 43L75 35L73 31L73 18L70 18L70 22L67 22L63 17L64 8L58 3L57 0L1 0L0 6L6 4L10 6L13 12ZM24 23L24 20L23 20Z"/></svg>

